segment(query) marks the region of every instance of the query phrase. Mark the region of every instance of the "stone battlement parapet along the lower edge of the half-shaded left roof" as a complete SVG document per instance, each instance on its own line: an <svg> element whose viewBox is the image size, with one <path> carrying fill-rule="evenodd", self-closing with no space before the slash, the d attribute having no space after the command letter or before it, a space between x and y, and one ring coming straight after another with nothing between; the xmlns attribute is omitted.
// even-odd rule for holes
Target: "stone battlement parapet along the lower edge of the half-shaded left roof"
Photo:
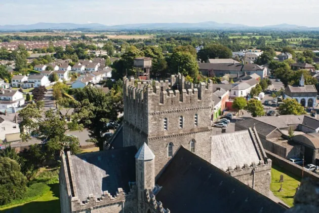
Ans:
<svg viewBox="0 0 319 213"><path fill-rule="evenodd" d="M88 199L85 201L79 200L77 197L71 198L72 211L84 210L91 207L111 205L114 203L123 203L127 200L136 198L136 187L133 186L131 191L126 194L122 188L118 188L116 195L112 196L108 191L104 191L102 196L96 198L93 194L89 194Z"/></svg>

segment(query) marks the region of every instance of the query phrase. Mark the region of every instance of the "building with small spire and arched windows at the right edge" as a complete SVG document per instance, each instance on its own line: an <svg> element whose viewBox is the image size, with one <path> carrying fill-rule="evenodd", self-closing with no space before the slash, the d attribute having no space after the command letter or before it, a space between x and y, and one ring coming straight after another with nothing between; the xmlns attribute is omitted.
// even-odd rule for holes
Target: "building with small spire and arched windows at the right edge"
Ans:
<svg viewBox="0 0 319 213"><path fill-rule="evenodd" d="M288 85L285 90L285 98L294 98L302 107L315 107L317 89L314 85L305 85L303 75L300 78L299 86Z"/></svg>

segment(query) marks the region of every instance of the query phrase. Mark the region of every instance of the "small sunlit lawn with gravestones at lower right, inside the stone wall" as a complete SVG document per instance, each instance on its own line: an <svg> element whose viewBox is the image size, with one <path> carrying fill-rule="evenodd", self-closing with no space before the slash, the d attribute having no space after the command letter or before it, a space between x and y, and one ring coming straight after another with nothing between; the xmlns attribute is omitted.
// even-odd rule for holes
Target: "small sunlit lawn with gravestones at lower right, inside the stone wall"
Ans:
<svg viewBox="0 0 319 213"><path fill-rule="evenodd" d="M284 175L283 183L279 183L281 174ZM278 190L281 187L281 184L283 184L283 191L278 192ZM290 172L285 171L283 168L280 168L276 165L272 165L270 190L273 192L274 196L284 201L287 205L293 206L294 195L296 193L296 188L298 187L298 184L300 184L299 177Z"/></svg>

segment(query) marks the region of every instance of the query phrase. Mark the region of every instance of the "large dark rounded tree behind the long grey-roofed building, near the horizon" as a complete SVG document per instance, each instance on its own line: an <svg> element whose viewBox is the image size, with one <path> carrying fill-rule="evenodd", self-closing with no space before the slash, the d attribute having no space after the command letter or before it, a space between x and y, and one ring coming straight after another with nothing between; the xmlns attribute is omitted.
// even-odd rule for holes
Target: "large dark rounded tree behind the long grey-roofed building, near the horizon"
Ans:
<svg viewBox="0 0 319 213"><path fill-rule="evenodd" d="M228 47L220 44L211 44L204 47L198 52L197 57L202 62L207 61L209 58L231 58L232 52Z"/></svg>

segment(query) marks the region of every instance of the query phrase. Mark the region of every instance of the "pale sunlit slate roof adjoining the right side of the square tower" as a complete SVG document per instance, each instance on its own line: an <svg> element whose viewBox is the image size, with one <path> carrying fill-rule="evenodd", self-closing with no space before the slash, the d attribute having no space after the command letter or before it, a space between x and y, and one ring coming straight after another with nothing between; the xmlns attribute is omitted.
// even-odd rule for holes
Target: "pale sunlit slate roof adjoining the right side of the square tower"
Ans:
<svg viewBox="0 0 319 213"><path fill-rule="evenodd" d="M258 164L260 159L248 130L212 136L211 163L217 168L227 170L228 166L244 167L252 162Z"/></svg>

